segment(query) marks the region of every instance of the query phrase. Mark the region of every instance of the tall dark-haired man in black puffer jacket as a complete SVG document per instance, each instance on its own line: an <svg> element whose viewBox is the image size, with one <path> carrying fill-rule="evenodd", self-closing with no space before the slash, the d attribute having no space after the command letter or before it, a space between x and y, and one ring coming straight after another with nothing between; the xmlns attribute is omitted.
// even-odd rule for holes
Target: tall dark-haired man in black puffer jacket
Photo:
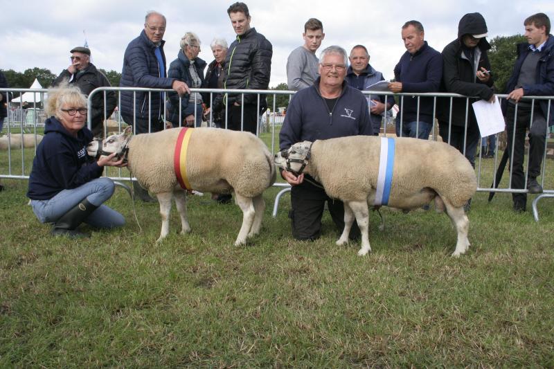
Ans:
<svg viewBox="0 0 554 369"><path fill-rule="evenodd" d="M256 89L265 90L269 87L271 74L271 43L256 28L250 27L250 13L245 3L234 3L227 9L237 39L229 46L225 58L224 88L225 89ZM258 96L244 95L244 107L241 94L225 94L223 103L226 105L228 122L227 127L235 131L249 131L256 134L258 114L267 108L265 96L260 96L260 110L258 110ZM244 108L244 117L241 113Z"/></svg>

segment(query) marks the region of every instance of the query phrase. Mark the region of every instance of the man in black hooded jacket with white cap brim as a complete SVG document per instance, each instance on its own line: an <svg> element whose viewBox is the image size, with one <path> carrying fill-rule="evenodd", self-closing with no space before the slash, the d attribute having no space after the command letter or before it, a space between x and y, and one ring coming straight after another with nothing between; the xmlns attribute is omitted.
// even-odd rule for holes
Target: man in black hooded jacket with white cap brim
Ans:
<svg viewBox="0 0 554 369"><path fill-rule="evenodd" d="M442 91L494 101L493 80L487 55L490 44L485 39L487 32L485 19L478 12L468 13L460 19L458 38L448 44L442 53ZM467 99L453 98L450 114L450 98L443 98L438 104L437 112L443 141L465 154L473 167L480 136L472 107L472 102L476 100L478 99L470 99L466 114Z"/></svg>

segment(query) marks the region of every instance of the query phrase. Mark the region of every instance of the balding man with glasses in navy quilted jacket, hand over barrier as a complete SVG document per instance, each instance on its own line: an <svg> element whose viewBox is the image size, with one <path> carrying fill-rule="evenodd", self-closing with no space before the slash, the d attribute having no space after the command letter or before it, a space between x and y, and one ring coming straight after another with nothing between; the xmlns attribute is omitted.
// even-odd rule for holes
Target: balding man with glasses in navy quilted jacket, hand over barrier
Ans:
<svg viewBox="0 0 554 369"><path fill-rule="evenodd" d="M174 89L181 96L190 93L185 82L167 77L166 54L163 53L163 44L166 42L162 39L164 33L166 17L159 12L148 12L141 35L129 42L125 50L120 87ZM165 126L165 96L161 92L122 91L120 112L123 120L134 125L136 134L161 131ZM156 201L139 183L133 182L133 187L136 197L142 201Z"/></svg>

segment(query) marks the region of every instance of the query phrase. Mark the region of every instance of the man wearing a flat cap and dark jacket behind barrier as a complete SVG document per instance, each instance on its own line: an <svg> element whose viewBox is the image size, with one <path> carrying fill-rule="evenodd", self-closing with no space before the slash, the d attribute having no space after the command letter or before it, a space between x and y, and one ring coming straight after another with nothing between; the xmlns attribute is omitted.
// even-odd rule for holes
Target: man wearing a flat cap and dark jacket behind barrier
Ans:
<svg viewBox="0 0 554 369"><path fill-rule="evenodd" d="M98 71L90 62L91 50L87 47L77 46L71 51L71 64L64 69L53 82L53 86L61 84L64 80L69 84L75 84L84 95L97 87L111 87L104 73ZM91 116L91 131L95 137L104 135L102 122L109 118L117 105L116 93L105 91L106 105L104 106L104 92L96 92L92 97L92 109L88 112Z"/></svg>

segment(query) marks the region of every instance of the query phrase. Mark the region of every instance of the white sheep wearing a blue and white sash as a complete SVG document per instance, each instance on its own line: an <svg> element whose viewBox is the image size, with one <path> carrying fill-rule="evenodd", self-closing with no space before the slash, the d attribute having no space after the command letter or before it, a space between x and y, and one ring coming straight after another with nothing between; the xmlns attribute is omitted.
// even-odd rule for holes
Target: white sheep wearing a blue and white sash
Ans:
<svg viewBox="0 0 554 369"><path fill-rule="evenodd" d="M371 251L368 238L368 205L375 204L382 140L375 136L348 136L296 143L275 156L278 167L310 174L334 199L344 202L344 230L337 245L348 243L354 219L361 231L358 255ZM438 212L445 210L458 232L459 256L470 246L469 220L463 206L477 189L470 162L446 143L416 138L393 138L395 155L388 206L411 210L435 199ZM387 143L390 141L387 141ZM388 144L387 144L388 145ZM392 162L391 162L392 163Z"/></svg>

